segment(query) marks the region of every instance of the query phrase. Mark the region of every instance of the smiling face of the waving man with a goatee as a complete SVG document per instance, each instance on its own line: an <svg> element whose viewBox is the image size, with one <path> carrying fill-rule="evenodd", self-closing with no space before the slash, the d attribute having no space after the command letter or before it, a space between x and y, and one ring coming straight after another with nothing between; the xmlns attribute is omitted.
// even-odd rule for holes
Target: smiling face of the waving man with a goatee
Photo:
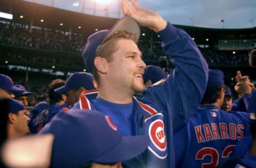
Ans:
<svg viewBox="0 0 256 168"><path fill-rule="evenodd" d="M119 39L116 43L118 49L108 65L109 80L113 87L123 92L142 93L145 90L143 73L146 64L137 44L130 39Z"/></svg>

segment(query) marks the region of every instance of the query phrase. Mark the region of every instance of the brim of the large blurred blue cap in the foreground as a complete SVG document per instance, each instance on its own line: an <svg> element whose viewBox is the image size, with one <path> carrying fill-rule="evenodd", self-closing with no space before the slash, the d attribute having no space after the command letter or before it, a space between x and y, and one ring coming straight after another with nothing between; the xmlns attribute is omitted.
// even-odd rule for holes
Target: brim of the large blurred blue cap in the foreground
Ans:
<svg viewBox="0 0 256 168"><path fill-rule="evenodd" d="M149 144L148 141L146 136L122 137L113 148L93 159L93 161L104 164L127 161L145 151Z"/></svg>

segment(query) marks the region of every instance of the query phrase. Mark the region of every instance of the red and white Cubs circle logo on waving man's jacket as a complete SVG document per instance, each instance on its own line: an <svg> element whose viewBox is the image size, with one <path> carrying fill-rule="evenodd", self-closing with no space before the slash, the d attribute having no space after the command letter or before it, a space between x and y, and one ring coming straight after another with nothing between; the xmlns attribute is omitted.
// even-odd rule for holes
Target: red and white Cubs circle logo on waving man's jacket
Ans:
<svg viewBox="0 0 256 168"><path fill-rule="evenodd" d="M166 138L164 133L164 123L162 120L156 120L149 125L149 137L157 149L164 151L166 149Z"/></svg>

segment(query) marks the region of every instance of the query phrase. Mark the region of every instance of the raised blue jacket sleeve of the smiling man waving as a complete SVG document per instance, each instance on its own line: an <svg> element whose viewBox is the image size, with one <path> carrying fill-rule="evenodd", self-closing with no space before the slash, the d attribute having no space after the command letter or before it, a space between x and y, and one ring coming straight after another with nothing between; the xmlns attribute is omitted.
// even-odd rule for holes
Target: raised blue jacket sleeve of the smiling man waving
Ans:
<svg viewBox="0 0 256 168"><path fill-rule="evenodd" d="M158 35L163 40L164 53L175 68L165 82L148 87L148 94L151 94L148 102L155 101L164 107L175 129L201 103L207 84L208 65L194 40L184 30L168 23Z"/></svg>

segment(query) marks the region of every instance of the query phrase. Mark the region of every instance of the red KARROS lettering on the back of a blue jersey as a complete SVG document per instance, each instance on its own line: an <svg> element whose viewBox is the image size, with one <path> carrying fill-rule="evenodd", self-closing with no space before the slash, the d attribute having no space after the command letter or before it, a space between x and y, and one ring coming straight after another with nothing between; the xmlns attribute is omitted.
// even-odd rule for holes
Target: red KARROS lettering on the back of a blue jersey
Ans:
<svg viewBox="0 0 256 168"><path fill-rule="evenodd" d="M244 137L244 126L235 123L209 123L194 127L197 142L217 139L237 139Z"/></svg>

